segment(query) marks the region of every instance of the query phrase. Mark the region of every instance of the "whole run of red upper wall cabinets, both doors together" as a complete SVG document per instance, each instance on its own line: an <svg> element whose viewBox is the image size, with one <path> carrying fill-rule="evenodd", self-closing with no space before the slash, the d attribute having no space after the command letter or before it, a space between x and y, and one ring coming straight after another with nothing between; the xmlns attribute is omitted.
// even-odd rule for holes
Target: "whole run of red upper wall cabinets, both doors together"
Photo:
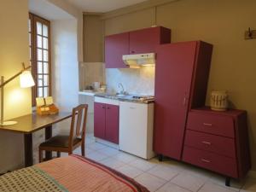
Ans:
<svg viewBox="0 0 256 192"><path fill-rule="evenodd" d="M106 68L125 68L123 55L154 53L157 45L169 43L171 30L162 26L108 36L105 38Z"/></svg>

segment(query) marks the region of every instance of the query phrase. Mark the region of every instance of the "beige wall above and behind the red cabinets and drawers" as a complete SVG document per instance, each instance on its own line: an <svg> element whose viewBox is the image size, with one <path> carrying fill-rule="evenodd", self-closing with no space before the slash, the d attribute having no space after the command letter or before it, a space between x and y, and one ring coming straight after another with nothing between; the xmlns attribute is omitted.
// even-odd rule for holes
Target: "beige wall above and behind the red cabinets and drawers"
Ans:
<svg viewBox="0 0 256 192"><path fill-rule="evenodd" d="M247 27L256 29L254 0L181 0L156 9L156 24L172 29L172 42L204 40L214 45L208 86L229 90L235 108L248 112L253 170L256 170L256 39L244 40ZM154 9L105 20L105 34L149 27ZM207 101L209 103L209 101Z"/></svg>

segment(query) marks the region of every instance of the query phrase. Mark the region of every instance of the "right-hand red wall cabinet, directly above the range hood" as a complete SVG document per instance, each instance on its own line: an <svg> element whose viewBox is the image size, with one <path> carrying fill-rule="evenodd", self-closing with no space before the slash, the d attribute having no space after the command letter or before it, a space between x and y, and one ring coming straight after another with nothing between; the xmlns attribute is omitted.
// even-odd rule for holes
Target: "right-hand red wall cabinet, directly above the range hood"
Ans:
<svg viewBox="0 0 256 192"><path fill-rule="evenodd" d="M159 44L171 43L171 30L156 26L130 32L130 54L154 53Z"/></svg>

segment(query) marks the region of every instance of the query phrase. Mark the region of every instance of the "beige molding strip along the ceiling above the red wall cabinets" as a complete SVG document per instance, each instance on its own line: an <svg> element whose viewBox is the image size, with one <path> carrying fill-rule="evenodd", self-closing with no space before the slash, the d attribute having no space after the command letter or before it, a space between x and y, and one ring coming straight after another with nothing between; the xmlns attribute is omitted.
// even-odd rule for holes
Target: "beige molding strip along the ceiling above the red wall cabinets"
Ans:
<svg viewBox="0 0 256 192"><path fill-rule="evenodd" d="M163 4L167 4L167 3L174 3L180 0L149 0L143 3L137 3L125 8L121 8L121 9L116 9L113 11L109 11L107 13L102 14L102 20L108 20L110 18L113 17L118 17L120 15L126 15L126 14L131 14L133 12L137 12L143 9L150 9L150 8L154 8Z"/></svg>

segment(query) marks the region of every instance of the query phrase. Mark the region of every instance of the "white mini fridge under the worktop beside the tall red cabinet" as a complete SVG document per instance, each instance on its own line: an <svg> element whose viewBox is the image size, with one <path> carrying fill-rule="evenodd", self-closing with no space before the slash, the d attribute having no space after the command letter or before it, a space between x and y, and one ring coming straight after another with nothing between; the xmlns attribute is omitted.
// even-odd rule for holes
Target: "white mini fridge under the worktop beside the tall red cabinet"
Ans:
<svg viewBox="0 0 256 192"><path fill-rule="evenodd" d="M154 157L154 103L119 102L119 149L143 159Z"/></svg>

